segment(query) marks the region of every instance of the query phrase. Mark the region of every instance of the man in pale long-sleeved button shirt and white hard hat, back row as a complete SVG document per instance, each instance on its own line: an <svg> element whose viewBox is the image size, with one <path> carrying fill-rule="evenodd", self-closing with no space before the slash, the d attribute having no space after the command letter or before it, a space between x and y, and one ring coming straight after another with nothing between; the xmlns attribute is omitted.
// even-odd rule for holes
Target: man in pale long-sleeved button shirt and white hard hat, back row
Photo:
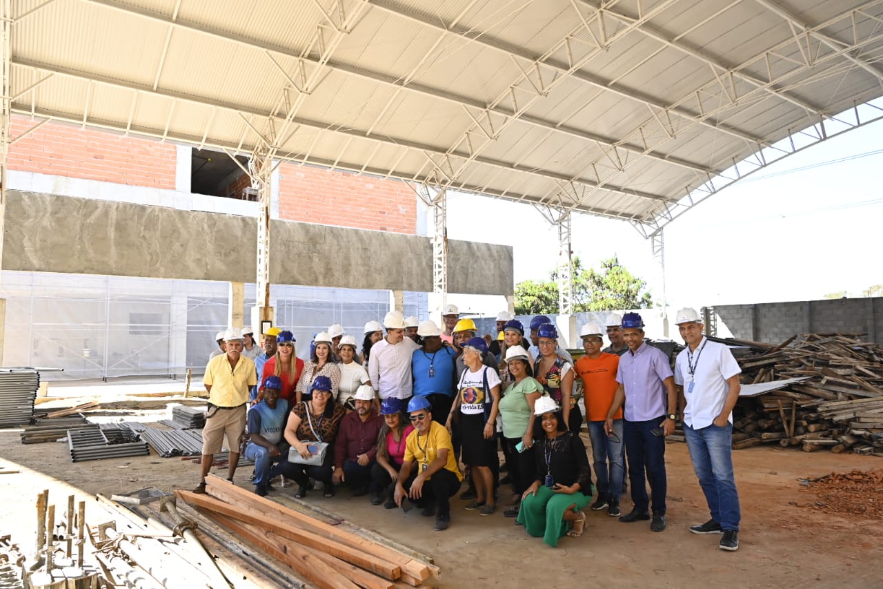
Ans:
<svg viewBox="0 0 883 589"><path fill-rule="evenodd" d="M368 358L368 378L381 401L389 397L411 398L411 356L418 348L404 337L404 316L392 310L383 317L386 336L371 348Z"/></svg>

